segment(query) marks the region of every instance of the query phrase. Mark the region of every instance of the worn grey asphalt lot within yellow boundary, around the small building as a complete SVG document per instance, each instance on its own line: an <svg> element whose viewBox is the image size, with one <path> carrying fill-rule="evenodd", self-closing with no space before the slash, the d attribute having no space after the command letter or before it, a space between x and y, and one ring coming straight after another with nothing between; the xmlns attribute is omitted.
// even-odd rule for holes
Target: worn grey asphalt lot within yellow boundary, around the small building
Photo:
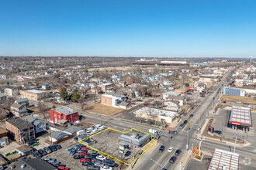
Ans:
<svg viewBox="0 0 256 170"><path fill-rule="evenodd" d="M124 155L120 154L119 145L121 145L121 143L119 143L119 136L121 134L123 133L107 129L99 134L92 135L90 139L91 141L95 140L96 143L93 143L90 147L130 164L135 158L137 158L137 156L139 156L138 153L141 151L140 148L124 148ZM87 145L85 140L81 141L81 143Z"/></svg>

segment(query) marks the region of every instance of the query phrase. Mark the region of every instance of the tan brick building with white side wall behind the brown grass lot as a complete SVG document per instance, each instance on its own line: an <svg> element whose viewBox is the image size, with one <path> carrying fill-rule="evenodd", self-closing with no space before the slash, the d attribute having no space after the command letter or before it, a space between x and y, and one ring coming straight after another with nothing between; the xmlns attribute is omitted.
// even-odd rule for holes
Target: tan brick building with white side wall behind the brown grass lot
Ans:
<svg viewBox="0 0 256 170"><path fill-rule="evenodd" d="M106 93L102 94L101 96L101 104L112 106L112 107L119 107L119 104L124 102L126 97L117 93Z"/></svg>

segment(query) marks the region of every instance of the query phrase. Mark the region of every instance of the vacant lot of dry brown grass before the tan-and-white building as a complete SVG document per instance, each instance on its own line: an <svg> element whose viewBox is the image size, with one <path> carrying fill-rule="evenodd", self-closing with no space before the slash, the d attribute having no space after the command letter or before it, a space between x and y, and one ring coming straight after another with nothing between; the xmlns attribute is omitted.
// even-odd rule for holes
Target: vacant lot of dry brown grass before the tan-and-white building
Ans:
<svg viewBox="0 0 256 170"><path fill-rule="evenodd" d="M86 110L91 111L97 114L105 114L107 116L114 116L119 112L123 111L124 109L119 109L115 107L105 106L102 104L89 104Z"/></svg>

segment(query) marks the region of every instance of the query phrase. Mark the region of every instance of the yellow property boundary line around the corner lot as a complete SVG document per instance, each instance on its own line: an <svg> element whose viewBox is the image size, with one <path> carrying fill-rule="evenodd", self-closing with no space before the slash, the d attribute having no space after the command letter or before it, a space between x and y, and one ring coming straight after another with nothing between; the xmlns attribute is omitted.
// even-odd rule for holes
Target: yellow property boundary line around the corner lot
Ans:
<svg viewBox="0 0 256 170"><path fill-rule="evenodd" d="M112 128L106 128L106 129L104 129L104 130L102 130L102 131L106 131L106 130L108 130L108 129L109 129L109 130L112 130L112 131L117 131L116 129L112 129ZM135 131L140 131L140 130L135 129L135 128L131 128L131 129L130 129L130 131L133 131L133 130L135 130ZM95 134L99 134L99 133L101 133L102 131L99 131L99 132L97 132L97 133L95 133ZM118 131L118 132L119 132L119 133L122 133L122 134L126 134L126 133L128 133L128 132L130 132L130 131L126 131L126 132ZM147 132L145 132L145 131L140 131L140 132L143 132L143 133L145 133L145 134L150 134L150 133L147 133ZM90 138L90 137L94 136L95 134L92 134L92 135L90 135L90 136L88 136L88 137L86 137L86 138ZM156 143L156 140L152 139L152 134L150 134L150 135L151 135L151 141L154 141L154 143L153 143L152 145L150 145L147 149L151 148L151 146L153 146L153 145ZM78 141L78 142L79 142L80 144L82 144L82 145L87 146L88 148L92 148L92 146L86 145L86 144L84 144L84 143L81 142L81 141L84 141L86 138L83 138L83 139L81 139L81 140ZM95 151L99 151L99 150L96 149L96 148L92 148L92 149L95 150ZM146 149L145 151L147 151L147 149ZM141 156L141 155L144 155L145 151L142 152L142 154L140 154L140 156ZM104 155L108 155L108 154L106 154L106 153L104 153L104 152L102 152L102 151L99 151L99 152L102 153L102 154L104 154ZM126 162L123 162L123 161L119 160L118 158L115 158L115 157L113 157L113 156L111 156L111 155L108 155L108 156L109 156L110 158L114 158L114 159L116 159L117 161L122 162L122 163L124 163L124 164L126 164L126 165L132 165L133 162L135 162L138 158L140 158L140 156L138 156L136 159L133 160L133 162L131 162L130 164L127 164Z"/></svg>

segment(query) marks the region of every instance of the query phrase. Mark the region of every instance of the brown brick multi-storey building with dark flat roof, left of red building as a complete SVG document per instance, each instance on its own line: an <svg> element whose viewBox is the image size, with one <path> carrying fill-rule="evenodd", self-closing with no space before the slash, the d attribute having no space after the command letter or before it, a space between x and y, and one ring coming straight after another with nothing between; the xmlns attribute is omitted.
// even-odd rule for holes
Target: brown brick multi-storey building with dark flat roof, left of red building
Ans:
<svg viewBox="0 0 256 170"><path fill-rule="evenodd" d="M33 124L21 118L13 118L5 121L6 130L19 143L26 143L30 139L36 138Z"/></svg>

